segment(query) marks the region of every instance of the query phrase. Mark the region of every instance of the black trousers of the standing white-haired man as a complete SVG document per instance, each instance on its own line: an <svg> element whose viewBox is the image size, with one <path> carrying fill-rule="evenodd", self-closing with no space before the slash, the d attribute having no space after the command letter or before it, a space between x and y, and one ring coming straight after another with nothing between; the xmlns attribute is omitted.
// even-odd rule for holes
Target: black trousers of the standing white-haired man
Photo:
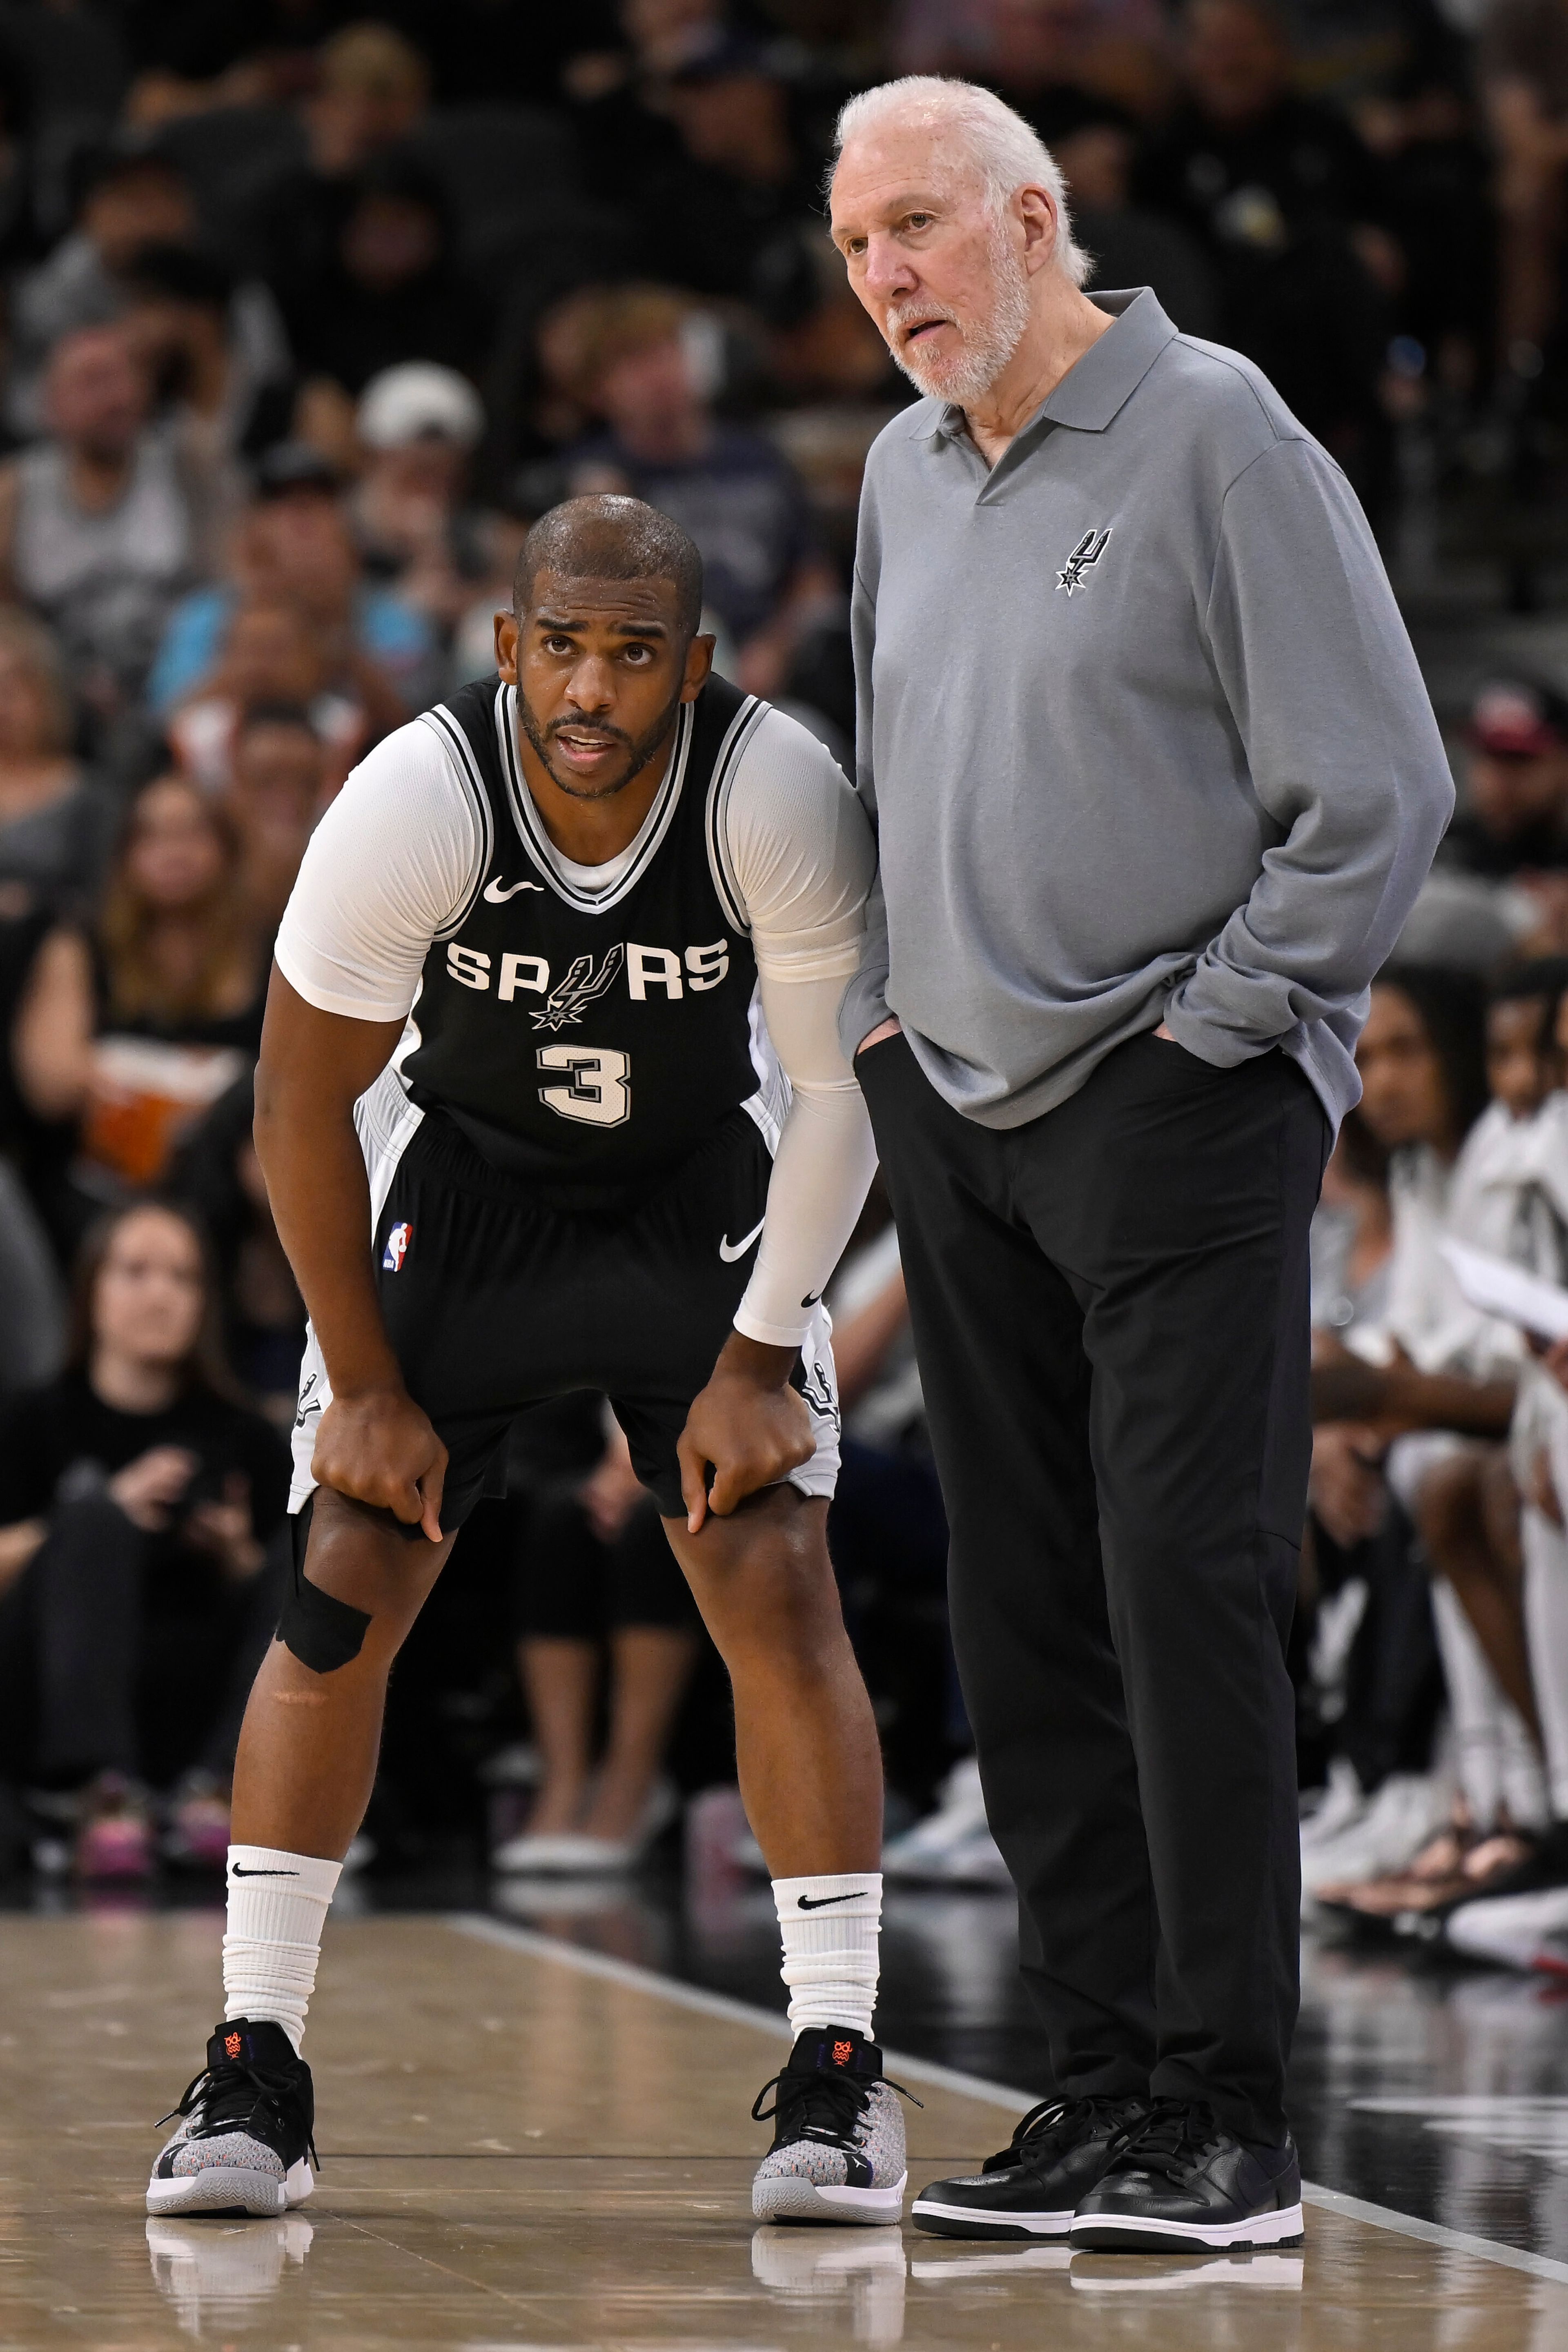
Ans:
<svg viewBox="0 0 1568 2352"><path fill-rule="evenodd" d="M1286 2136L1307 1228L1328 1120L1262 1054L1145 1035L1058 1110L856 1061L952 1529L952 1637L1065 2096Z"/></svg>

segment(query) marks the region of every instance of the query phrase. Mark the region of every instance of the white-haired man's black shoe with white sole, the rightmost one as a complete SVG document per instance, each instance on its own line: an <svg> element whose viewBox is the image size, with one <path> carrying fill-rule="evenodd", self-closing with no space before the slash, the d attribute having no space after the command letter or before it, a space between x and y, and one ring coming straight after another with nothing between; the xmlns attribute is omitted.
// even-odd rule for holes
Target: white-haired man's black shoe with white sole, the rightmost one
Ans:
<svg viewBox="0 0 1568 2352"><path fill-rule="evenodd" d="M1302 2244L1295 2145L1253 2150L1201 2100L1157 2098L1072 2216L1072 2249L1260 2253Z"/></svg>

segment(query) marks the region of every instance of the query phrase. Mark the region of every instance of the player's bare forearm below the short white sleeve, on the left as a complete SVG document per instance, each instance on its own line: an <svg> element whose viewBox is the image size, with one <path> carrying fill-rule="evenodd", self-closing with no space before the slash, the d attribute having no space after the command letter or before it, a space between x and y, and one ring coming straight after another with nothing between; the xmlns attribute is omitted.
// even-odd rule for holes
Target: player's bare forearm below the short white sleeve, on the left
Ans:
<svg viewBox="0 0 1568 2352"><path fill-rule="evenodd" d="M353 1110L299 1101L296 1089L259 1077L256 1157L334 1397L402 1388L376 1303L369 1183Z"/></svg>

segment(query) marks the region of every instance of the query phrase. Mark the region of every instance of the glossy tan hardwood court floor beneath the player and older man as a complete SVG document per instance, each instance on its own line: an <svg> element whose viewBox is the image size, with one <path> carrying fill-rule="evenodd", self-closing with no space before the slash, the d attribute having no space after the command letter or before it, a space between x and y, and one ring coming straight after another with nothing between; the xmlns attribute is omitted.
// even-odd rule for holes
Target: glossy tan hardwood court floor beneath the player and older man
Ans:
<svg viewBox="0 0 1568 2352"><path fill-rule="evenodd" d="M776 2027L435 1917L329 1929L310 2206L148 2223L219 1936L212 1912L0 1919L0 2352L1568 2352L1556 2277L1324 2206L1305 2253L1222 2263L757 2230ZM1006 2138L1006 2096L905 2079L914 2183Z"/></svg>

